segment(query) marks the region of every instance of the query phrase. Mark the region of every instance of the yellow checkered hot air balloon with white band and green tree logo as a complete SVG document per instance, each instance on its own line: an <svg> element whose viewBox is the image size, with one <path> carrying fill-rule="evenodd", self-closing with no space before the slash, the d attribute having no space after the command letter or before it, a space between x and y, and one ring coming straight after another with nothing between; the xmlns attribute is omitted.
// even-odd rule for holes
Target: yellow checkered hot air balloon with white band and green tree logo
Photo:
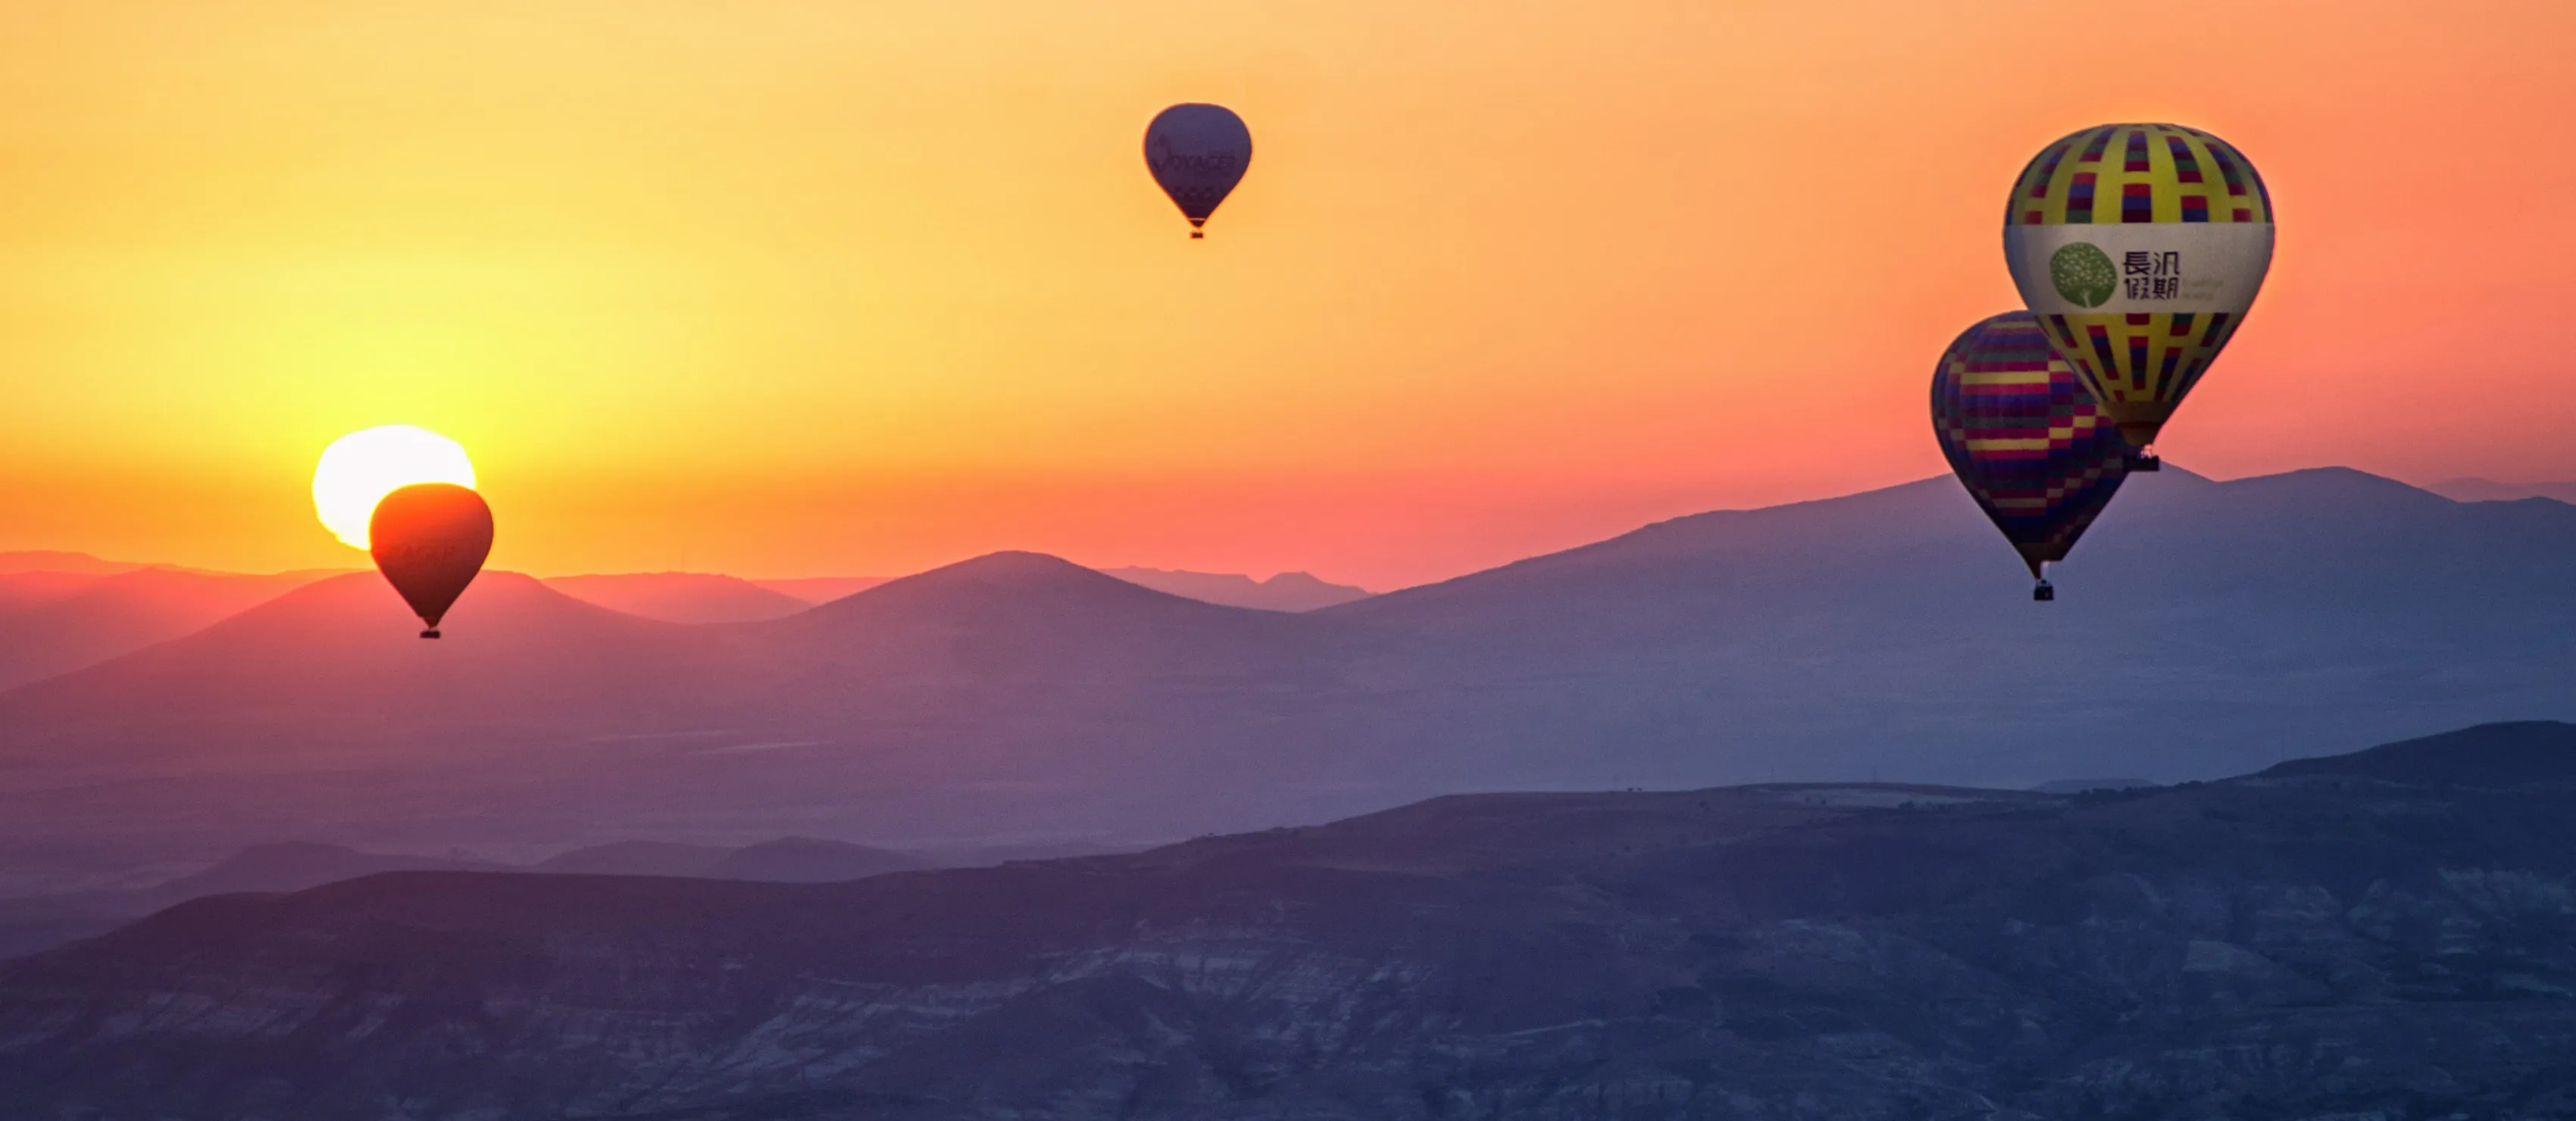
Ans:
<svg viewBox="0 0 2576 1121"><path fill-rule="evenodd" d="M2228 142L2105 124L2048 144L2012 183L2004 260L2102 412L2151 446L2228 345L2272 265L2272 196Z"/></svg>

